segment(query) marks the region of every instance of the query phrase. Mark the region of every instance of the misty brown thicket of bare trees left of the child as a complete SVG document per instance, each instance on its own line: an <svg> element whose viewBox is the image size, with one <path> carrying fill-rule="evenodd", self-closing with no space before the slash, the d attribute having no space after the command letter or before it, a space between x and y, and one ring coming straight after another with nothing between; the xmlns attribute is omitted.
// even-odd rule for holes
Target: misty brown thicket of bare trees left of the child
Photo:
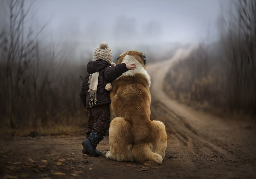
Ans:
<svg viewBox="0 0 256 179"><path fill-rule="evenodd" d="M6 1L8 27L0 29L0 122L18 128L87 123L79 98L86 66L72 62L73 49L42 43L42 29L25 28L30 8ZM47 25L47 24L46 24ZM82 118L82 119L79 119Z"/></svg>

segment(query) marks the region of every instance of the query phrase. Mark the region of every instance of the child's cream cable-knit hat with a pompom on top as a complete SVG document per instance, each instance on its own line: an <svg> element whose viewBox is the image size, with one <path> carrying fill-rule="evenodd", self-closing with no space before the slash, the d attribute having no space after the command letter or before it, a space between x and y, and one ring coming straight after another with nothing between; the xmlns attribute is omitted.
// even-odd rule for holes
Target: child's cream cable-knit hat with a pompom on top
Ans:
<svg viewBox="0 0 256 179"><path fill-rule="evenodd" d="M112 60L112 51L106 42L101 42L99 47L96 47L94 50L92 60L96 61L99 59L106 60L111 66L115 65Z"/></svg>

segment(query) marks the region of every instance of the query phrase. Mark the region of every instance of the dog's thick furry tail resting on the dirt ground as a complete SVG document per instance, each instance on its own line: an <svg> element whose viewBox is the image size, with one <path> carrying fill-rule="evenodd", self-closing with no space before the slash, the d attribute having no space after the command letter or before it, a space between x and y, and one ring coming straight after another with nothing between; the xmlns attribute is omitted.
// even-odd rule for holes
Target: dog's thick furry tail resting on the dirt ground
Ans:
<svg viewBox="0 0 256 179"><path fill-rule="evenodd" d="M151 151L152 146L149 143L136 143L133 145L133 157L135 160L144 165L156 166L162 164L163 158L157 153Z"/></svg>

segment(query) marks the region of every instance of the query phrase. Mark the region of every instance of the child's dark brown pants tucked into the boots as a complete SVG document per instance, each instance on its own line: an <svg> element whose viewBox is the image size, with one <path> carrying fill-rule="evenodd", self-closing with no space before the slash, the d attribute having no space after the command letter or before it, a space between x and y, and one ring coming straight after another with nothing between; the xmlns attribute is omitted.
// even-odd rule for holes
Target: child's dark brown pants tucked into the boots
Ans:
<svg viewBox="0 0 256 179"><path fill-rule="evenodd" d="M95 130L105 136L110 125L109 104L92 107L88 109L88 114L88 126L85 128L85 134L90 134L92 130Z"/></svg>

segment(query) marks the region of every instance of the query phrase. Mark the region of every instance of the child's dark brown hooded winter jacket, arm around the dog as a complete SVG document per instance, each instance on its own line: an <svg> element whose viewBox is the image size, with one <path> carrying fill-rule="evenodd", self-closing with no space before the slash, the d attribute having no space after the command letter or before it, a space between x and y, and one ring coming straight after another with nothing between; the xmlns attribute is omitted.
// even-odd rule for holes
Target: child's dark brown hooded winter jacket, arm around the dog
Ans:
<svg viewBox="0 0 256 179"><path fill-rule="evenodd" d="M107 83L114 81L127 71L126 64L121 63L111 67L110 63L105 60L90 61L87 65L87 74L83 79L82 88L80 90L81 101L87 109L90 107L99 106L102 104L110 104L109 91L106 91ZM97 102L94 105L89 105L90 95L89 90L89 76L92 73L99 72L98 87L97 87Z"/></svg>

